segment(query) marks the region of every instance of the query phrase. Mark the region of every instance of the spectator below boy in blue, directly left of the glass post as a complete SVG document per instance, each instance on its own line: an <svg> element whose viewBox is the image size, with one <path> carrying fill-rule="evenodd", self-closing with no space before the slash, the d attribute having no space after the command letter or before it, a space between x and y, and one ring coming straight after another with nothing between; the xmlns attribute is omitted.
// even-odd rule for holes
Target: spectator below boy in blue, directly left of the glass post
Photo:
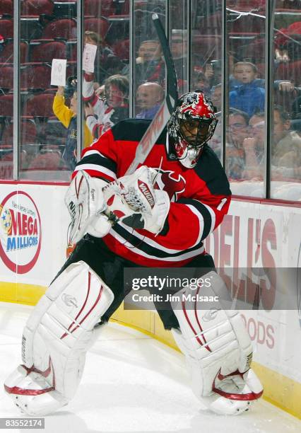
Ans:
<svg viewBox="0 0 301 433"><path fill-rule="evenodd" d="M264 112L256 112L249 120L249 137L243 140L244 164L242 178L263 180L264 176Z"/></svg>

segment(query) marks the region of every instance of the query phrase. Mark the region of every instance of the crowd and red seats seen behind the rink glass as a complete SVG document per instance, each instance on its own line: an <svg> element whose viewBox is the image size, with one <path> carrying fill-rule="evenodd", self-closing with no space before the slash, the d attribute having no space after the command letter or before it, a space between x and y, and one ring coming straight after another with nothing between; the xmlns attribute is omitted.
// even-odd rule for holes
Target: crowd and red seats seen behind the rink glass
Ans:
<svg viewBox="0 0 301 433"><path fill-rule="evenodd" d="M12 161L12 3L0 0L0 163ZM169 11L170 48L179 93L200 88L211 97L220 117L222 1L194 0L193 3L190 38L187 30L183 30L187 27L185 2L171 2ZM301 1L276 0L273 4L273 93L268 95L274 107L271 178L300 182ZM225 169L234 182L264 179L265 5L264 0L227 1ZM96 45L97 52L95 71L83 71L81 76L83 146L90 145L114 123L129 117L130 82L135 96L134 117L151 120L160 108L165 95L165 61L151 23L153 11L164 18L165 1L134 2L134 18L139 24L134 37L136 58L130 68L129 1L85 1L84 43ZM20 13L20 171L70 171L76 163L78 133L76 0L66 3L23 0ZM67 60L65 88L50 86L53 58ZM220 126L221 122L209 143L219 157L223 147ZM3 171L1 177L5 177Z"/></svg>

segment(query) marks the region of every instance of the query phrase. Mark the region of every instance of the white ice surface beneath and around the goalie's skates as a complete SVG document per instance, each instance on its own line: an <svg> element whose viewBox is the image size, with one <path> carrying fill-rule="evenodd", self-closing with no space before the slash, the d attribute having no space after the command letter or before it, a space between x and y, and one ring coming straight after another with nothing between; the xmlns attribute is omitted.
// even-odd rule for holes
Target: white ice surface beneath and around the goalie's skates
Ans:
<svg viewBox="0 0 301 433"><path fill-rule="evenodd" d="M31 309L0 303L1 384L20 364L20 338ZM0 417L19 416L24 417L1 385ZM201 410L189 388L182 354L111 323L87 355L76 397L65 408L45 417L45 430L34 431L293 433L301 432L301 422L264 400L238 417Z"/></svg>

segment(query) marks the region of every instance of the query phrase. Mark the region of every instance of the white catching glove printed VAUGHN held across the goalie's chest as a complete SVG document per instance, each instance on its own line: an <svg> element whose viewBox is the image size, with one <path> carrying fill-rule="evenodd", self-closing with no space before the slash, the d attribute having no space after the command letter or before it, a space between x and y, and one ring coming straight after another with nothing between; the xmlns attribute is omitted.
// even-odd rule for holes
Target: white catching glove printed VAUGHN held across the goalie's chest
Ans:
<svg viewBox="0 0 301 433"><path fill-rule="evenodd" d="M141 166L133 174L106 185L103 192L109 219L160 233L170 210L170 198L166 191L153 187L156 176L154 168Z"/></svg>

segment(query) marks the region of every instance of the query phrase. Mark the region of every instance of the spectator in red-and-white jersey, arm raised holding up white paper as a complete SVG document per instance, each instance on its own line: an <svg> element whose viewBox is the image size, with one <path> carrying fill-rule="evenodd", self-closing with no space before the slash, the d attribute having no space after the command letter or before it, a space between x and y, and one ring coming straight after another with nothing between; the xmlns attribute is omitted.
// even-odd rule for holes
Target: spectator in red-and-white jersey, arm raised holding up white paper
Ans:
<svg viewBox="0 0 301 433"><path fill-rule="evenodd" d="M123 75L112 75L105 80L105 94L97 96L93 88L94 74L83 76L85 118L94 139L107 129L129 117L129 80Z"/></svg>

